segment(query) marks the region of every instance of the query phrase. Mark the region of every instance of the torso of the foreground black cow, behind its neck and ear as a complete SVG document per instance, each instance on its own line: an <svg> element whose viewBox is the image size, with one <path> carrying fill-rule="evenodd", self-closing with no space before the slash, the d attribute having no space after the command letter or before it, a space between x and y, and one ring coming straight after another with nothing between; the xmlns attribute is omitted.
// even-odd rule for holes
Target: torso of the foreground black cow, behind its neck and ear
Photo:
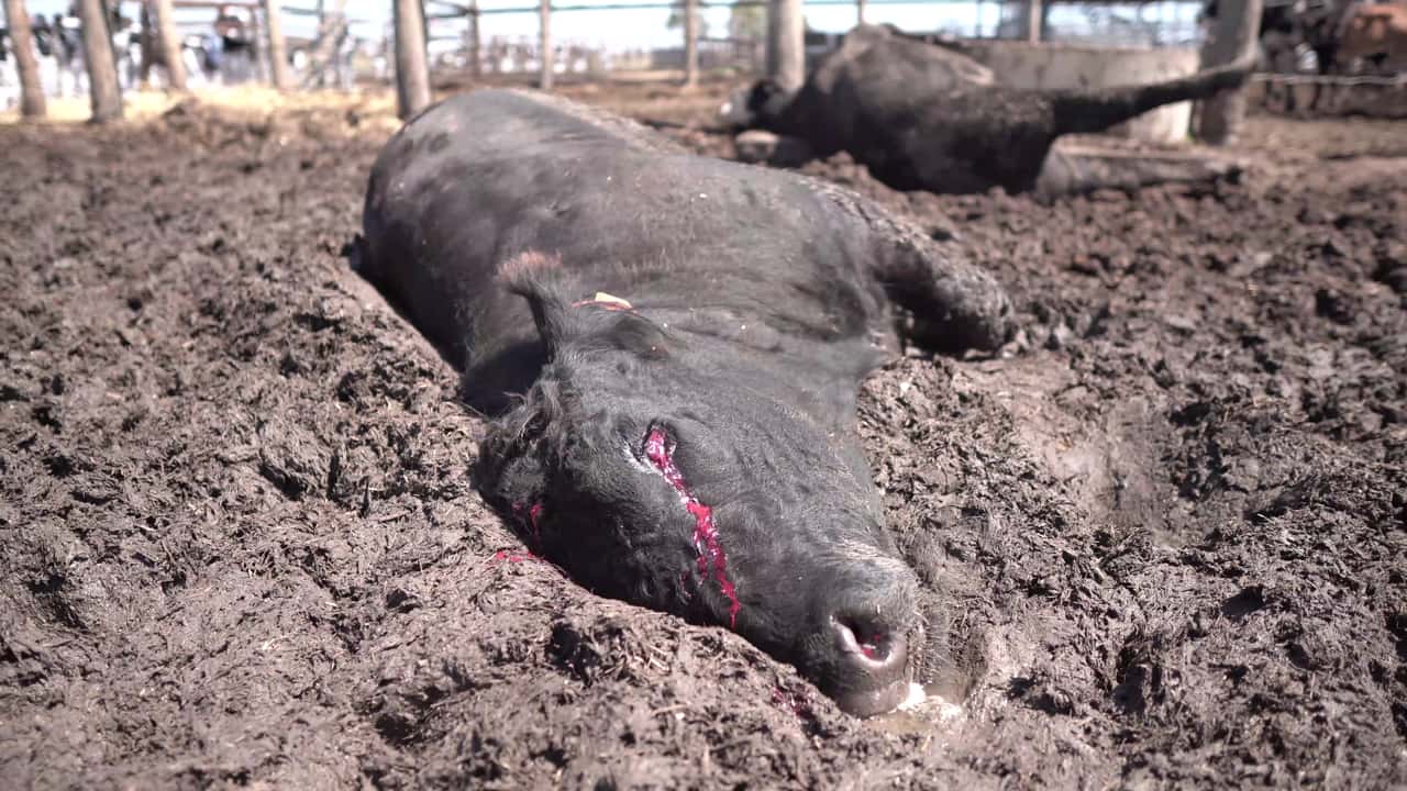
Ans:
<svg viewBox="0 0 1407 791"><path fill-rule="evenodd" d="M387 144L360 270L459 366L540 363L525 304L494 283L526 251L560 256L582 296L764 311L778 328L858 335L885 311L868 272L874 218L833 191L689 155L560 99L483 90L431 107Z"/></svg>

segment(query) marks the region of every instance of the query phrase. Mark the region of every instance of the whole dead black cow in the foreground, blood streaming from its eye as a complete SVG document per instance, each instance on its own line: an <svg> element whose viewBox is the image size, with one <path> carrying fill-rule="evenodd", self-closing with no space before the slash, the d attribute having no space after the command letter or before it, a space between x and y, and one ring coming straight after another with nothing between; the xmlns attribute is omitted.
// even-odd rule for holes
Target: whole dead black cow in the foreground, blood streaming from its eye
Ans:
<svg viewBox="0 0 1407 791"><path fill-rule="evenodd" d="M498 415L476 486L533 548L850 712L905 698L924 619L855 393L898 348L889 300L930 346L1002 343L985 273L834 186L502 90L393 137L363 225L359 272Z"/></svg>

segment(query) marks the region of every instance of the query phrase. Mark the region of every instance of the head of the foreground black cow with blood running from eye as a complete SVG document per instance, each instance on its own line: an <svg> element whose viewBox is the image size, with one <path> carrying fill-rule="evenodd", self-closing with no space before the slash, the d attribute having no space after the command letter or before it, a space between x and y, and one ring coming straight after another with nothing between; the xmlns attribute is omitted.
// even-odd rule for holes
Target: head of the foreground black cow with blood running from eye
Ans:
<svg viewBox="0 0 1407 791"><path fill-rule="evenodd" d="M853 714L898 705L924 624L854 439L647 311L573 304L552 260L502 276L549 362L481 445L485 498L588 588L730 628Z"/></svg>

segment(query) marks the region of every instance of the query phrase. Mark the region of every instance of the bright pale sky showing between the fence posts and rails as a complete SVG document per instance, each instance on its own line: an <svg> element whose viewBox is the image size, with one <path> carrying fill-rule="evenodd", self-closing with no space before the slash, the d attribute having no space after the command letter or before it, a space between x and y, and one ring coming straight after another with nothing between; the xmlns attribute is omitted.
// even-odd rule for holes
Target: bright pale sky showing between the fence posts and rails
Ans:
<svg viewBox="0 0 1407 791"><path fill-rule="evenodd" d="M599 6L602 3L622 3L630 0L554 0L559 6ZM891 4L871 3L865 10L865 18L871 23L891 23L903 30L938 31L947 30L958 35L976 35L978 23L991 35L1000 20L1000 8L996 0L978 3L976 0L919 0L913 3ZM69 0L27 0L31 14L53 14L68 8ZM124 1L124 11L136 15L136 3ZM317 27L317 17L312 14L288 13L291 8L305 8L311 11L314 0L287 0L283 15L283 27L287 35L311 37ZM529 38L537 35L536 0L480 0L483 8L532 8L514 14L484 14L480 23L480 32L487 41L499 35L507 38ZM349 0L348 13L353 20L352 32L360 38L381 38L388 30L390 0ZM1133 4L1130 3L1130 14ZM426 13L447 10L435 3L426 4ZM1190 20L1196 14L1196 3L1166 1L1151 4L1150 14L1162 14L1164 20ZM1059 24L1062 17L1068 17L1069 24L1083 21L1083 15L1071 6L1057 6L1052 24ZM827 32L844 32L855 24L854 6L810 6L805 10L806 24L813 30ZM559 11L553 15L553 32L560 41L573 41L585 46L602 46L611 51L620 49L649 49L656 46L673 46L681 41L682 32L668 30L666 21L670 11L666 8L628 8L628 10L590 10L590 11ZM177 21L211 20L211 11L180 8L176 13ZM711 35L726 35L727 7L705 8L704 21ZM432 35L457 35L466 27L463 20L435 20L431 23Z"/></svg>

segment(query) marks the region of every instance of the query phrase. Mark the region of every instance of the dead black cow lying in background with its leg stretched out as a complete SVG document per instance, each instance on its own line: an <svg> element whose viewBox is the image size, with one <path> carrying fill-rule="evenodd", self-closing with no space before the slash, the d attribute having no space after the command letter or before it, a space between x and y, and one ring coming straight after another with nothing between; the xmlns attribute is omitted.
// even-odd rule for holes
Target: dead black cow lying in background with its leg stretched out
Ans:
<svg viewBox="0 0 1407 791"><path fill-rule="evenodd" d="M976 193L1036 187L1055 139L1102 132L1142 113L1240 86L1255 58L1190 77L1103 90L1023 90L947 46L861 25L788 94L768 80L725 107L734 125L802 138L810 153L848 152L899 190Z"/></svg>

